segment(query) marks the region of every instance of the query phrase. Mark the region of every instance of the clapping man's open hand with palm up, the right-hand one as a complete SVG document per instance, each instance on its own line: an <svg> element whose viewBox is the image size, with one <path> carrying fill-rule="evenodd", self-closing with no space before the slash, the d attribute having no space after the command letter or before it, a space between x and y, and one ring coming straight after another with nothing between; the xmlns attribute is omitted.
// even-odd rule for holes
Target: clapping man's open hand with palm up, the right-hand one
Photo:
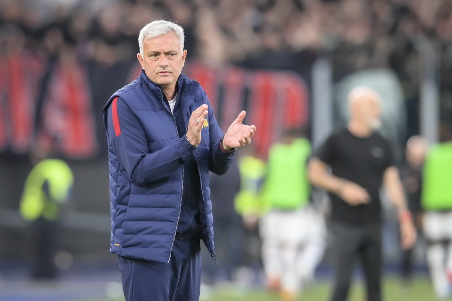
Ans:
<svg viewBox="0 0 452 301"><path fill-rule="evenodd" d="M235 147L243 147L246 144L251 143L251 137L256 131L255 125L242 124L247 112L240 112L236 120L229 126L228 130L224 134L223 147L225 150L230 150Z"/></svg>

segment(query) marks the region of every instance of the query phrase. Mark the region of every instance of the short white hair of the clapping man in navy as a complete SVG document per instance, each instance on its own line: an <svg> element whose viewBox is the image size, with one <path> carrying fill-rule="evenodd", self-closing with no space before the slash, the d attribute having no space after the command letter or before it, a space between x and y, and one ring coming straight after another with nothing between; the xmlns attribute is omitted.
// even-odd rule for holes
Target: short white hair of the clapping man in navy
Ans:
<svg viewBox="0 0 452 301"><path fill-rule="evenodd" d="M177 25L174 22L169 22L165 20L153 21L146 24L140 30L140 35L138 36L138 46L140 47L140 54L143 56L143 42L147 39L152 39L155 37L162 36L167 33L175 33L179 38L179 44L181 52L184 50L184 29L182 26Z"/></svg>

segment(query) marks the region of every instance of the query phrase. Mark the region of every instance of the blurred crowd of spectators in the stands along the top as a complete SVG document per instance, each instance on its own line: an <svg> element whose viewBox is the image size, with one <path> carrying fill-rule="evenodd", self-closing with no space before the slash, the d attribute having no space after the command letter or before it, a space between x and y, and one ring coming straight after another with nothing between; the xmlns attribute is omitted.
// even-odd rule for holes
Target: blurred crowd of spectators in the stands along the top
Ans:
<svg viewBox="0 0 452 301"><path fill-rule="evenodd" d="M188 61L290 69L308 83L318 56L331 60L334 82L357 70L389 68L411 115L417 113L422 65L416 41L422 37L435 53L441 119L452 115L449 0L2 0L0 56L27 51L50 62L76 58L109 67L135 60L139 30L156 19L184 27ZM442 132L449 135L445 123Z"/></svg>

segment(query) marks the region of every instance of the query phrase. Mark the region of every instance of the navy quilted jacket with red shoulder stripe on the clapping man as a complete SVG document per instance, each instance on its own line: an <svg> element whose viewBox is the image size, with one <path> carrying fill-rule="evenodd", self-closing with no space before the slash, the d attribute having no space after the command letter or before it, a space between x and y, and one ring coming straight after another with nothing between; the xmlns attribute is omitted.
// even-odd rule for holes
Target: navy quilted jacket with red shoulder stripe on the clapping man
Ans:
<svg viewBox="0 0 452 301"><path fill-rule="evenodd" d="M223 136L198 82L181 74L178 95L185 124L201 104L208 115L198 147L179 136L158 84L145 72L113 94L103 109L108 142L111 248L124 257L168 263L180 217L183 164L194 156L201 182L202 239L214 256L209 170L228 171L234 153L221 150Z"/></svg>

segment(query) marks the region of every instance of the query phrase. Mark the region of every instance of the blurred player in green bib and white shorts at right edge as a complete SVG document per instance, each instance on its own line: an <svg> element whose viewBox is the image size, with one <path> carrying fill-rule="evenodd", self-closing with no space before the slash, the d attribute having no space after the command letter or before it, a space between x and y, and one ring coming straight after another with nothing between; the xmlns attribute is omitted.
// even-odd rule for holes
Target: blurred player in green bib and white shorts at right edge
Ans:
<svg viewBox="0 0 452 301"><path fill-rule="evenodd" d="M438 298L452 287L452 142L431 146L423 169L422 229L427 242L427 263Z"/></svg>

